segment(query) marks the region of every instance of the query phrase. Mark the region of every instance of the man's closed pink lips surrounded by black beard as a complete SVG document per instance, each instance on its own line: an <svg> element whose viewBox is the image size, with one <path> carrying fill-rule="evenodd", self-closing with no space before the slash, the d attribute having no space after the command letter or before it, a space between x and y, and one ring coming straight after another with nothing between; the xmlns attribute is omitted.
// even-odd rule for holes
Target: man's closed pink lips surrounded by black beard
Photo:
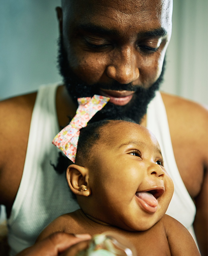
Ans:
<svg viewBox="0 0 208 256"><path fill-rule="evenodd" d="M124 106L127 103L130 102L132 99L132 96L134 94L134 91L116 91L116 90L105 90L105 89L100 89L100 95L109 97L110 100L109 102L119 105L119 106Z"/></svg>

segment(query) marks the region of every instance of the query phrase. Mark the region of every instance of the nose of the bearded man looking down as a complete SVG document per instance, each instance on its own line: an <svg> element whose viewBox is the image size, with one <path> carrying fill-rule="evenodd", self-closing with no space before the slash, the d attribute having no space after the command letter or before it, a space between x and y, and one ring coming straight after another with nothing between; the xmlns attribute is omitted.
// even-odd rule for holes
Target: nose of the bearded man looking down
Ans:
<svg viewBox="0 0 208 256"><path fill-rule="evenodd" d="M135 49L124 47L116 51L106 68L106 74L121 84L128 84L138 79L139 69Z"/></svg>

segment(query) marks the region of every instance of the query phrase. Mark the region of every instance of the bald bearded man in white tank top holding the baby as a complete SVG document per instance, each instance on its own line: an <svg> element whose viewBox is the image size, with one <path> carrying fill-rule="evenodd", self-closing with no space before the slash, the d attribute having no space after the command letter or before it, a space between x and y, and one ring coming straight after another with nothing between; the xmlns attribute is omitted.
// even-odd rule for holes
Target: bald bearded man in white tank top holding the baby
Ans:
<svg viewBox="0 0 208 256"><path fill-rule="evenodd" d="M64 173L53 170L60 161L56 165L51 141L75 115L77 97L94 93L110 101L92 121L126 115L156 135L175 186L167 213L190 231L193 224L206 255L207 112L176 96L155 96L171 13L171 0L63 0L57 8L65 85L40 88L0 107L0 202L7 209L11 255L33 244L54 218L78 208Z"/></svg>

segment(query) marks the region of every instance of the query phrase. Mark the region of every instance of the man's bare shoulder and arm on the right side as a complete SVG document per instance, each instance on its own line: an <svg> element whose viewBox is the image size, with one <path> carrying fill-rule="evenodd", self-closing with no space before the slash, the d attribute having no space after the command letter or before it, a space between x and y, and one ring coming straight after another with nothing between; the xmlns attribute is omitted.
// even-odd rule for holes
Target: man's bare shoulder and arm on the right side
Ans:
<svg viewBox="0 0 208 256"><path fill-rule="evenodd" d="M194 230L207 255L208 112L200 104L162 93L171 141L182 180L196 204Z"/></svg>

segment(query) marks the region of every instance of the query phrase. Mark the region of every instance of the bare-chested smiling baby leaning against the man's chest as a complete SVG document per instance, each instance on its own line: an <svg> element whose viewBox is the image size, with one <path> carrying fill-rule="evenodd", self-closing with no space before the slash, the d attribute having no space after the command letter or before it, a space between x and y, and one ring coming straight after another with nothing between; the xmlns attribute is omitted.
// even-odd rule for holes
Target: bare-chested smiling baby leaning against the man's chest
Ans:
<svg viewBox="0 0 208 256"><path fill-rule="evenodd" d="M66 176L81 209L56 218L38 240L57 231L108 231L130 241L138 256L200 255L185 227L165 214L174 186L145 127L119 120L88 124Z"/></svg>

